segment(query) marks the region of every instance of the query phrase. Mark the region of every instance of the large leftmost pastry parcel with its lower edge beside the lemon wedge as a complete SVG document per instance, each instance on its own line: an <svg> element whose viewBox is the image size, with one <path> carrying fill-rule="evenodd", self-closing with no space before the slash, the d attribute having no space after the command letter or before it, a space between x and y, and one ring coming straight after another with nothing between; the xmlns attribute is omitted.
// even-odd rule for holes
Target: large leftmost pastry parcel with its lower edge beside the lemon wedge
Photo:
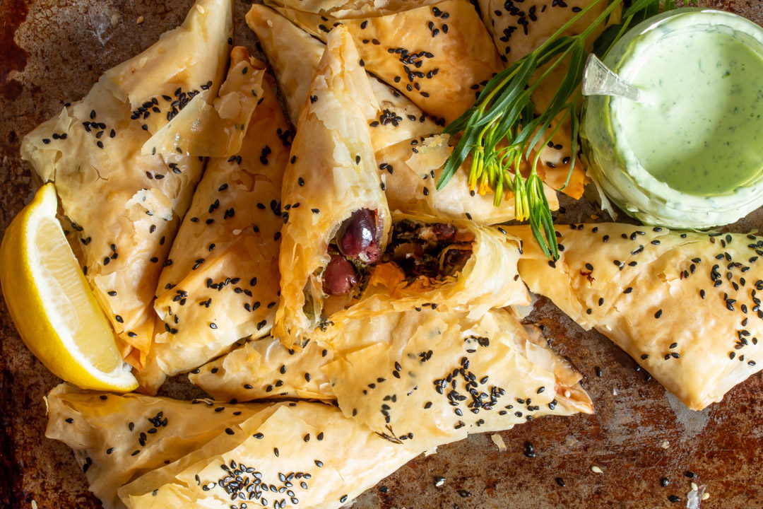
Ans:
<svg viewBox="0 0 763 509"><path fill-rule="evenodd" d="M217 95L231 12L230 0L199 0L180 27L106 71L85 98L21 144L34 172L56 183L82 243L82 270L122 355L138 368L153 335L159 272L203 166L182 150L143 154L143 145L200 92Z"/></svg>

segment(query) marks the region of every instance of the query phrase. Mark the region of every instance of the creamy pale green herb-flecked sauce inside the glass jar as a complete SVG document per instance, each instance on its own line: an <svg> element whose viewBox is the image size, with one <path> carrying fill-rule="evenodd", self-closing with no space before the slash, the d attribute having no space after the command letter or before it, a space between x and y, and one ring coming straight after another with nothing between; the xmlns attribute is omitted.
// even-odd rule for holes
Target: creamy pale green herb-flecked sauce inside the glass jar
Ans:
<svg viewBox="0 0 763 509"><path fill-rule="evenodd" d="M621 76L645 104L613 115L641 166L691 195L716 195L763 169L763 57L726 31L678 31Z"/></svg>

